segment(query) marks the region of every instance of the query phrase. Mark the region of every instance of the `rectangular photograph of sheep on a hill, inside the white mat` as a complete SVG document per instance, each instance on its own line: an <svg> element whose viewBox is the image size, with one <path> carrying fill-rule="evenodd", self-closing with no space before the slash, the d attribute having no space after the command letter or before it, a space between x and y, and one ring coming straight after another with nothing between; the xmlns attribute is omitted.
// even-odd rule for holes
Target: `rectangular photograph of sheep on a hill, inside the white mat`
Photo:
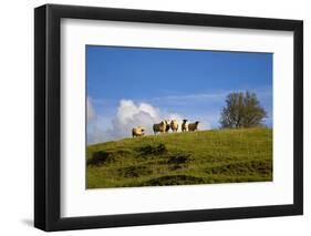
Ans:
<svg viewBox="0 0 311 236"><path fill-rule="evenodd" d="M85 45L86 188L272 182L273 53Z"/></svg>

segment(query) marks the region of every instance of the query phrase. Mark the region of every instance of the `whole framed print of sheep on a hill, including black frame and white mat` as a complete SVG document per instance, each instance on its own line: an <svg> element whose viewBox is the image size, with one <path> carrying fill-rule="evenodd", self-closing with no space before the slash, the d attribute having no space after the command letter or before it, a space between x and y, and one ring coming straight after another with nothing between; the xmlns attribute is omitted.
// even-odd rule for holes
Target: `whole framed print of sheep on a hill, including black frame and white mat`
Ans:
<svg viewBox="0 0 311 236"><path fill-rule="evenodd" d="M301 215L303 23L34 10L34 225Z"/></svg>

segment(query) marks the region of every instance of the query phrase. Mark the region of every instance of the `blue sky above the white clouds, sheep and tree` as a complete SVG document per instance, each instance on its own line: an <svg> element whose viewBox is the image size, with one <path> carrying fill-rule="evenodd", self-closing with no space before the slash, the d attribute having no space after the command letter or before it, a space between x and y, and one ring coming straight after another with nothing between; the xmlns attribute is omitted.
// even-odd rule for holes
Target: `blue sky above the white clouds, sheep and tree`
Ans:
<svg viewBox="0 0 311 236"><path fill-rule="evenodd" d="M226 95L248 90L272 125L272 53L86 45L86 83L91 143L101 141L92 141L95 129L112 130L121 101L218 127Z"/></svg>

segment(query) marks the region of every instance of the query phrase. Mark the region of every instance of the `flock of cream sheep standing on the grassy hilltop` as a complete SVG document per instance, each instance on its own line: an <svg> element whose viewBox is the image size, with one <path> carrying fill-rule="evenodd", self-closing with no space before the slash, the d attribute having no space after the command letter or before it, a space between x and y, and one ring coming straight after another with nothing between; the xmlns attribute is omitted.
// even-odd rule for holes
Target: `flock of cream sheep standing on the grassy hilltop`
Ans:
<svg viewBox="0 0 311 236"><path fill-rule="evenodd" d="M183 120L182 123L182 132L187 131L196 131L198 130L199 122L196 121L195 123L188 123L188 120ZM153 125L154 134L157 133L168 133L169 129L172 132L177 132L179 127L179 124L176 120L172 120L170 122L168 120L164 120L158 124ZM143 136L145 135L145 129L142 126L133 127L132 129L132 136Z"/></svg>

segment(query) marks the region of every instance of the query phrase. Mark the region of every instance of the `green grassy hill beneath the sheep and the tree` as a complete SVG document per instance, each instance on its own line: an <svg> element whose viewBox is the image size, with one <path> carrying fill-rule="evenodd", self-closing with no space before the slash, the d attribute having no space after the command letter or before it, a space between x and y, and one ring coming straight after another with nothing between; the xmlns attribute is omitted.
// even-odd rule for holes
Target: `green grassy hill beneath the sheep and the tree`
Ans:
<svg viewBox="0 0 311 236"><path fill-rule="evenodd" d="M272 130L168 133L87 146L86 187L272 181Z"/></svg>

